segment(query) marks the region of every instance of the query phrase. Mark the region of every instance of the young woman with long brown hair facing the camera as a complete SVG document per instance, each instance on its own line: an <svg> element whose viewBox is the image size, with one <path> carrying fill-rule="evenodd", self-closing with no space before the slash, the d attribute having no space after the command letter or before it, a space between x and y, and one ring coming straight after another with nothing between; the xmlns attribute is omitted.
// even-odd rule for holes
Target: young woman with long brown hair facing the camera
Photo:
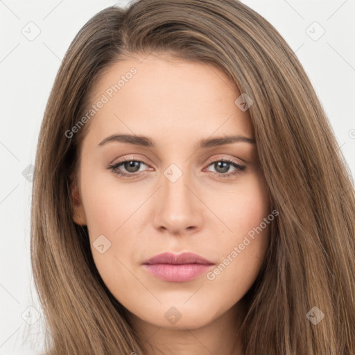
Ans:
<svg viewBox="0 0 355 355"><path fill-rule="evenodd" d="M47 354L355 354L352 178L302 65L243 3L90 19L35 166Z"/></svg>

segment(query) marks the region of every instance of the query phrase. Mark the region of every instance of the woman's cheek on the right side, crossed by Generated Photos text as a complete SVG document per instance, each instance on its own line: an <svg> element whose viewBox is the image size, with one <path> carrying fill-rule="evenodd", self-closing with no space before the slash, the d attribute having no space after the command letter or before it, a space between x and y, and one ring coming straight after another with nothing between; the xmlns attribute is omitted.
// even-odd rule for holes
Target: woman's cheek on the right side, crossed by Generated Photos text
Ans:
<svg viewBox="0 0 355 355"><path fill-rule="evenodd" d="M253 175L230 191L227 205L220 205L225 232L220 237L220 263L207 279L218 282L225 294L239 299L252 286L265 258L270 239L271 214L268 189L261 175ZM231 231L232 230L232 231Z"/></svg>

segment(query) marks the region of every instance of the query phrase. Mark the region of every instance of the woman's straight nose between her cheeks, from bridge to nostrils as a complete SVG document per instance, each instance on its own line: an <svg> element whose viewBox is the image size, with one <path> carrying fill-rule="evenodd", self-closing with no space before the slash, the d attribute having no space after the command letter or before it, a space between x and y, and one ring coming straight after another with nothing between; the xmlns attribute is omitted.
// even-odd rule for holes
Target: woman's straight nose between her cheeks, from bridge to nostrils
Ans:
<svg viewBox="0 0 355 355"><path fill-rule="evenodd" d="M157 230L184 235L196 233L202 228L204 204L190 175L184 171L176 181L162 175L162 187L157 191L153 218Z"/></svg>

